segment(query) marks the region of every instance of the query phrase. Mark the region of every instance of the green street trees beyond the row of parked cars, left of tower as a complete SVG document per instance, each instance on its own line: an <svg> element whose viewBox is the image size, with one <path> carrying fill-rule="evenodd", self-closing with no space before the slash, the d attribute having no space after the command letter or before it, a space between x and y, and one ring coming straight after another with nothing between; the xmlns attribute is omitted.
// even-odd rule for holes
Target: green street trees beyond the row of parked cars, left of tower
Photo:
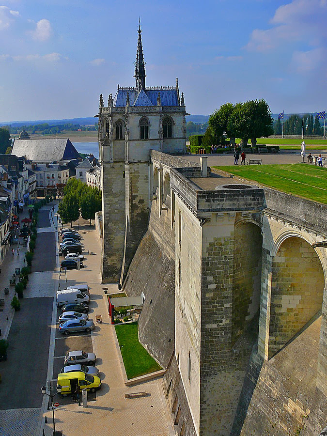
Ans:
<svg viewBox="0 0 327 436"><path fill-rule="evenodd" d="M87 186L77 179L69 179L63 189L64 197L58 212L64 224L76 221L81 215L84 219L95 219L95 212L102 209L100 189Z"/></svg>

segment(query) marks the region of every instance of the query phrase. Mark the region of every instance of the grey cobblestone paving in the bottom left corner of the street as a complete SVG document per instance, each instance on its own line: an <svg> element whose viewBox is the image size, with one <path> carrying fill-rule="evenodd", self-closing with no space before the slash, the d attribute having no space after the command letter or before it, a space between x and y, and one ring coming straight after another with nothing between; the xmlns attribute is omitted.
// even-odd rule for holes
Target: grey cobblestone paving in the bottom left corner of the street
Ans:
<svg viewBox="0 0 327 436"><path fill-rule="evenodd" d="M0 410L1 436L35 436L40 408Z"/></svg>

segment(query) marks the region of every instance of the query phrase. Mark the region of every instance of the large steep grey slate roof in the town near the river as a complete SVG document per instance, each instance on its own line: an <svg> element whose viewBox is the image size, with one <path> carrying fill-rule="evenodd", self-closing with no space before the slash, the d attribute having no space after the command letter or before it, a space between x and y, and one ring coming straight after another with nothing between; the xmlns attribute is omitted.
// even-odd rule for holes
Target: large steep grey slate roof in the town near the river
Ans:
<svg viewBox="0 0 327 436"><path fill-rule="evenodd" d="M77 159L78 151L68 138L15 140L12 155L26 156L33 162Z"/></svg>

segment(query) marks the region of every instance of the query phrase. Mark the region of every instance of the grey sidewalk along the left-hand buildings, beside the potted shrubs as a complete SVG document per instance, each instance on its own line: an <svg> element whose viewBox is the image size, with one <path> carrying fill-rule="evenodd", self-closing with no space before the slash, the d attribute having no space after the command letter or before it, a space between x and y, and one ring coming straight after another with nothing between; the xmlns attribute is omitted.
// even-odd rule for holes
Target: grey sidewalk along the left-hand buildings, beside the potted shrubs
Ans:
<svg viewBox="0 0 327 436"><path fill-rule="evenodd" d="M19 214L20 221L24 218L29 218L29 209L27 206L24 207L24 212ZM17 245L11 245L5 258L3 259L2 264L0 265L1 274L0 274L0 298L4 298L4 306L0 309L0 329L1 336L0 339L7 339L11 323L14 318L15 311L12 309L10 303L15 294L15 286L9 286L9 279L12 279L13 274L15 273L15 268L22 268L23 266L27 266L24 264L26 247L21 245L23 242L23 238L19 238L19 256L17 255ZM15 250L14 256L12 255L11 249ZM16 279L16 283L18 282L18 278ZM9 295L4 295L4 288L9 288Z"/></svg>

